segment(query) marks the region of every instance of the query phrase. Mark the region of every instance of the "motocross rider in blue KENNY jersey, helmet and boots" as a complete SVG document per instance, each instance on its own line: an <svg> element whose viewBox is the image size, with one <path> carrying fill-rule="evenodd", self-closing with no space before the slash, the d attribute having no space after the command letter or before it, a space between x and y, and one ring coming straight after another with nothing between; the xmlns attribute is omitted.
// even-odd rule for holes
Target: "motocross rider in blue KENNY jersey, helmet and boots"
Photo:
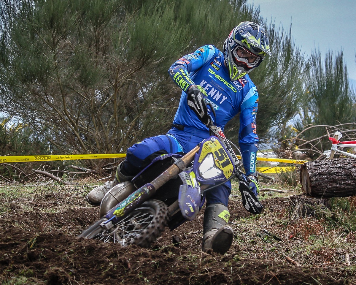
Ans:
<svg viewBox="0 0 356 285"><path fill-rule="evenodd" d="M156 156L187 153L208 138L210 110L205 103L211 103L216 114L215 125L223 130L225 124L240 113L242 161L250 189L257 196L260 190L256 173L258 93L247 73L259 66L266 55L271 56L271 52L265 30L254 22L241 22L226 38L224 52L206 45L174 62L168 73L183 92L172 129L166 135L147 138L127 149L126 159L117 167L115 180L95 187L87 195L87 201L99 205L106 192L119 181L131 181ZM231 246L234 235L227 225L230 193L230 181L206 193L204 251L213 249L224 254Z"/></svg>

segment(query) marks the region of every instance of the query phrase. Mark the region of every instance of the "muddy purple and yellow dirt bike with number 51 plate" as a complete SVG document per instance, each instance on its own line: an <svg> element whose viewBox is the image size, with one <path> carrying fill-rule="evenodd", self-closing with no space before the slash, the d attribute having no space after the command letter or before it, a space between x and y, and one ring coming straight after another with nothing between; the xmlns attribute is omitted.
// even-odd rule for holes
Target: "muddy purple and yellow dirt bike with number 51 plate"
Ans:
<svg viewBox="0 0 356 285"><path fill-rule="evenodd" d="M232 143L221 128L211 124L209 130L210 137L187 154L156 157L132 183L111 188L100 204L101 218L79 237L148 247L166 226L173 230L197 217L204 193L234 177L245 209L261 213L263 206L248 187Z"/></svg>

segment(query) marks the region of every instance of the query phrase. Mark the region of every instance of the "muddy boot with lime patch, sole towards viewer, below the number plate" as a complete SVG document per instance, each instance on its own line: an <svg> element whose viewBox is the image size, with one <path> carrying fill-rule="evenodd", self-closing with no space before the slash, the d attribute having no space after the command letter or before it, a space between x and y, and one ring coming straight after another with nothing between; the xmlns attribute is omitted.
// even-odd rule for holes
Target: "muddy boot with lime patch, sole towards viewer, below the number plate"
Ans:
<svg viewBox="0 0 356 285"><path fill-rule="evenodd" d="M225 254L231 247L234 231L227 226L229 210L222 204L210 204L204 212L204 236L202 249L204 252Z"/></svg>

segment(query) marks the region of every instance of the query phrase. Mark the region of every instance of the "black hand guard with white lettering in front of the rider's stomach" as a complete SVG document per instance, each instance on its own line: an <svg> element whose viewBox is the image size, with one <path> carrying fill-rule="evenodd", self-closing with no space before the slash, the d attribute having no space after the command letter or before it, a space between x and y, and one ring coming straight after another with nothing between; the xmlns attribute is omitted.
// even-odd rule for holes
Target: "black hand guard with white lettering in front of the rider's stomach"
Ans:
<svg viewBox="0 0 356 285"><path fill-rule="evenodd" d="M211 118L208 109L204 103L203 96L208 96L203 88L199 85L192 85L187 92L188 106L199 117L204 125L211 124Z"/></svg>

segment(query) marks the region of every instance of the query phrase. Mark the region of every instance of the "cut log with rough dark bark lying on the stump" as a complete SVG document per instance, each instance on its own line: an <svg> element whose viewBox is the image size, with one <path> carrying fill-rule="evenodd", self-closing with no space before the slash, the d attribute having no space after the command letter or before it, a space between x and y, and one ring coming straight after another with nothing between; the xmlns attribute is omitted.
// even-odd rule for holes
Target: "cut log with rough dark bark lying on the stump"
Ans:
<svg viewBox="0 0 356 285"><path fill-rule="evenodd" d="M300 167L303 191L313 197L356 195L356 159L338 158L305 162Z"/></svg>

